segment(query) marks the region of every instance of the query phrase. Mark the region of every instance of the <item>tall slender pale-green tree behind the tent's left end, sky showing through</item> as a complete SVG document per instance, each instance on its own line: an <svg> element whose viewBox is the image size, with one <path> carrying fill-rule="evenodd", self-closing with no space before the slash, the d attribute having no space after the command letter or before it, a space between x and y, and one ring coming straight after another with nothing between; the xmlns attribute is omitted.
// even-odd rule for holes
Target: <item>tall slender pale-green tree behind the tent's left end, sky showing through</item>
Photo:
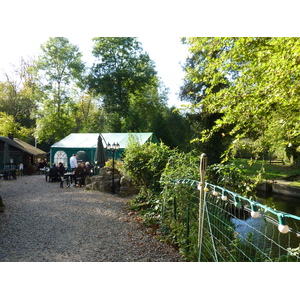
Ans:
<svg viewBox="0 0 300 300"><path fill-rule="evenodd" d="M79 48L64 37L49 38L36 63L41 86L36 137L50 143L62 139L75 126L76 88L83 87L85 66Z"/></svg>

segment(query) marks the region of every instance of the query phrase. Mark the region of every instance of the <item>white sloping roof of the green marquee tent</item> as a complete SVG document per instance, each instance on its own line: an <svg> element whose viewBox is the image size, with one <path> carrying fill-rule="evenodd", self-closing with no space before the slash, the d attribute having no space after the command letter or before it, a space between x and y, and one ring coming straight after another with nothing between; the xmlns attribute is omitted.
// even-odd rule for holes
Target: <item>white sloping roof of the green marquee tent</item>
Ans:
<svg viewBox="0 0 300 300"><path fill-rule="evenodd" d="M106 147L106 143L119 143L120 148L126 148L127 142L130 136L138 139L142 144L153 138L152 132L142 133L101 133L104 141L103 146ZM53 144L51 148L97 148L99 133L71 133L59 142ZM155 138L156 140L156 138Z"/></svg>

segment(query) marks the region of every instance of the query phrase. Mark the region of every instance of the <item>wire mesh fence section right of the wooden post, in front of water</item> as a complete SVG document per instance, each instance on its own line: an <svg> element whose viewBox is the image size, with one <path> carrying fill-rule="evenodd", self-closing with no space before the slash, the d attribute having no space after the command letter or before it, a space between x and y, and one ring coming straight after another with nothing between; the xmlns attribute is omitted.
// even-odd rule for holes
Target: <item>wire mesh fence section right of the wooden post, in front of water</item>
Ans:
<svg viewBox="0 0 300 300"><path fill-rule="evenodd" d="M199 261L299 261L299 220L206 183Z"/></svg>

